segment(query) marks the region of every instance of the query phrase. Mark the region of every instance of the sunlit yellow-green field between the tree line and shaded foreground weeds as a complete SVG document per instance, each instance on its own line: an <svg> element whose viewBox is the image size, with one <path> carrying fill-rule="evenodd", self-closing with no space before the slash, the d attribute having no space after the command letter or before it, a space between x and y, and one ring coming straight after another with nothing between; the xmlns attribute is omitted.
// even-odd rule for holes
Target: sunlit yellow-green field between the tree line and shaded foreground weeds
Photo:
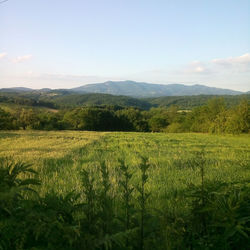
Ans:
<svg viewBox="0 0 250 250"><path fill-rule="evenodd" d="M207 179L234 182L250 178L250 135L0 132L0 157L32 163L44 191L77 189L78 170L102 160L112 170L123 158L136 172L140 156L146 156L151 164L150 189L166 194L199 181L200 170L191 166L191 160L202 150Z"/></svg>

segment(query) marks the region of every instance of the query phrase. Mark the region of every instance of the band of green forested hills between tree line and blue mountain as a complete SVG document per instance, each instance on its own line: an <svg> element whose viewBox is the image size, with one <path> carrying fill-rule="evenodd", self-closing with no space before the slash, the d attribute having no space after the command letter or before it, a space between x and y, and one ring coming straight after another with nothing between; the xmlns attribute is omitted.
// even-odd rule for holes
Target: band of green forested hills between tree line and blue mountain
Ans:
<svg viewBox="0 0 250 250"><path fill-rule="evenodd" d="M222 97L228 107L237 105L243 98L250 100L250 94L234 96L165 96L141 99L109 94L77 94L69 90L0 91L0 103L56 109L81 106L121 106L148 110L152 107L170 107L172 105L176 105L180 109L192 109L206 104L208 100L215 97Z"/></svg>

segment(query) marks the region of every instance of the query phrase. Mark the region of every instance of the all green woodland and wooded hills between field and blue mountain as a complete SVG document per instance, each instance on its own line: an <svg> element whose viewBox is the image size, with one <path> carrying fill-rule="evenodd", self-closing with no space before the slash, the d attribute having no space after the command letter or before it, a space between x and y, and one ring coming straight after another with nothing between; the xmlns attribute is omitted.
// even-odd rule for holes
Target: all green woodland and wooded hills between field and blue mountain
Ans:
<svg viewBox="0 0 250 250"><path fill-rule="evenodd" d="M248 133L250 128L249 95L161 97L150 104L60 93L1 93L0 129Z"/></svg>

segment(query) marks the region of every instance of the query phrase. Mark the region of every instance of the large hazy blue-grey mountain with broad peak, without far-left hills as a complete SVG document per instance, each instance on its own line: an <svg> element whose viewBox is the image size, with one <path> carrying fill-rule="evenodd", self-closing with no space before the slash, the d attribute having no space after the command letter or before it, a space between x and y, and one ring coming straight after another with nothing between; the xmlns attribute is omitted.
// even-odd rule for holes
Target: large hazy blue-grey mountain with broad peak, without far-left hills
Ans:
<svg viewBox="0 0 250 250"><path fill-rule="evenodd" d="M152 84L134 81L107 81L87 84L71 89L77 93L103 93L132 97L190 96L190 95L239 95L240 91L183 84Z"/></svg>

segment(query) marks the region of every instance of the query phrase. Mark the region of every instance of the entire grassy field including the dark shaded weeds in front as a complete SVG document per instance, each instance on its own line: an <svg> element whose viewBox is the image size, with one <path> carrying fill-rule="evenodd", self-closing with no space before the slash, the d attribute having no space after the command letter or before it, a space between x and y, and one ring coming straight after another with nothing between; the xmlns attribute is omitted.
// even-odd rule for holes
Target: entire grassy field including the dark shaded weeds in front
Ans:
<svg viewBox="0 0 250 250"><path fill-rule="evenodd" d="M1 132L0 248L248 249L249 142Z"/></svg>

